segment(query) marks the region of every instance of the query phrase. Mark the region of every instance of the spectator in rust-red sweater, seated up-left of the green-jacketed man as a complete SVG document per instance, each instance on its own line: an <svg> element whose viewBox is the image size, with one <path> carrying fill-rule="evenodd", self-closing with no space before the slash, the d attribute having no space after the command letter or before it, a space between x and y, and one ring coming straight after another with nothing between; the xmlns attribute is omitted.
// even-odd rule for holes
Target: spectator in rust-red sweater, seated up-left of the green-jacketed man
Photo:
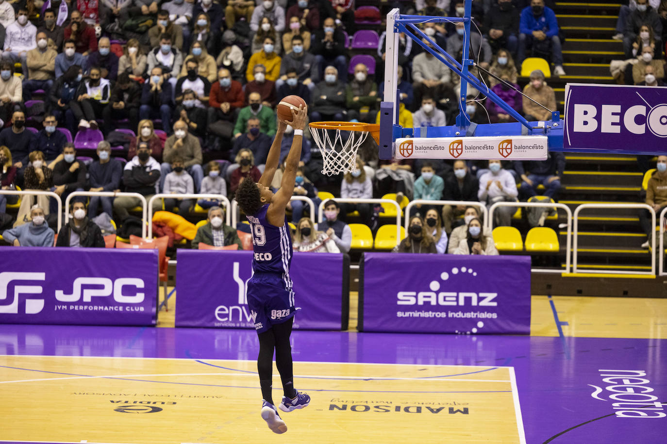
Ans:
<svg viewBox="0 0 667 444"><path fill-rule="evenodd" d="M229 69L219 69L217 79L209 92L208 128L216 136L231 139L238 110L243 107L243 87L231 80Z"/></svg>

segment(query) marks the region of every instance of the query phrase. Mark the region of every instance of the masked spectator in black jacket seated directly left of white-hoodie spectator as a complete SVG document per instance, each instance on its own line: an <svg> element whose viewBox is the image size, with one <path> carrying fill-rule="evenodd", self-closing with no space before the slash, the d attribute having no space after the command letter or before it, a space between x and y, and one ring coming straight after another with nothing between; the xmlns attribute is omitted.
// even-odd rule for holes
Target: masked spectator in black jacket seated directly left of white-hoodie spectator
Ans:
<svg viewBox="0 0 667 444"><path fill-rule="evenodd" d="M464 160L454 161L454 171L445 177L445 187L442 192L442 200L460 200L462 202L476 202L477 192L480 188L480 182L475 174L468 170L468 166ZM473 208L476 215L476 207ZM452 226L454 219L467 212L464 205L445 205L442 207L442 220L444 220L445 231L452 233ZM467 223L466 223L467 224ZM455 248L458 246L454 246ZM451 252L450 252L451 253Z"/></svg>

